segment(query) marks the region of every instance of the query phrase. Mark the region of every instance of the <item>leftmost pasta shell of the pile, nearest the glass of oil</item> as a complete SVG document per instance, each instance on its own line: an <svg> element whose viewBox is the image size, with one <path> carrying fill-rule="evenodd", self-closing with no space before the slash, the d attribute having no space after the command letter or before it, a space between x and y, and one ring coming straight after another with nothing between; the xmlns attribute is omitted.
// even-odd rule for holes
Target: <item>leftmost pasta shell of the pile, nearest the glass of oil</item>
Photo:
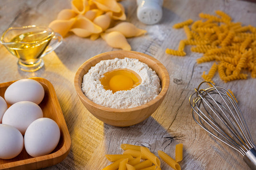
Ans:
<svg viewBox="0 0 256 170"><path fill-rule="evenodd" d="M49 28L64 37L69 32L75 21L75 18L70 20L54 20L49 24Z"/></svg>

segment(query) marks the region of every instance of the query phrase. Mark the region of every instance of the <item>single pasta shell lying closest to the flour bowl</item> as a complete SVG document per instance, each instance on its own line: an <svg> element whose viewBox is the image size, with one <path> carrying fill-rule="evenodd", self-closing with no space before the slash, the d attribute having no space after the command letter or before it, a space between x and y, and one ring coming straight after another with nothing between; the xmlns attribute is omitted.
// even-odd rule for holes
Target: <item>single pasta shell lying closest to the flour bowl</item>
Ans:
<svg viewBox="0 0 256 170"><path fill-rule="evenodd" d="M131 50L131 46L128 44L125 36L120 32L113 31L111 33L100 34L108 45L114 48L122 48L123 50Z"/></svg>

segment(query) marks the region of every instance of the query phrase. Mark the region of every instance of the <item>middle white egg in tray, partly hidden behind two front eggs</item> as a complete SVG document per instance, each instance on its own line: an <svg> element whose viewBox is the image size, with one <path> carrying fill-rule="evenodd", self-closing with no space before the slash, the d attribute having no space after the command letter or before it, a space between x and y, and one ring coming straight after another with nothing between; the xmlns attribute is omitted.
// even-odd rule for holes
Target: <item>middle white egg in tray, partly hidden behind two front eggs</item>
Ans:
<svg viewBox="0 0 256 170"><path fill-rule="evenodd" d="M2 123L16 127L24 135L27 127L41 117L43 117L43 111L36 103L22 101L12 104L5 111Z"/></svg>

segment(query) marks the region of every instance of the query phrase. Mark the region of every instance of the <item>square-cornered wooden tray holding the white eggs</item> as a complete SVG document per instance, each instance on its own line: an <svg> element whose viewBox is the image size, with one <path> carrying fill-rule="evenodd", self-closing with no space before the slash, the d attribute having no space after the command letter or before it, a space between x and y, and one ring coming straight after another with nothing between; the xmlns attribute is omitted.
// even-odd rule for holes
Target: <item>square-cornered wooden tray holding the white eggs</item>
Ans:
<svg viewBox="0 0 256 170"><path fill-rule="evenodd" d="M13 159L0 159L0 169L40 169L60 163L68 155L71 147L71 138L61 111L61 106L52 84L43 78L30 78L37 80L44 88L45 96L39 104L43 116L54 120L60 127L61 138L57 147L48 155L31 157L23 148L22 152ZM15 81L0 84L0 96L4 98L4 92ZM8 105L10 107L10 105Z"/></svg>

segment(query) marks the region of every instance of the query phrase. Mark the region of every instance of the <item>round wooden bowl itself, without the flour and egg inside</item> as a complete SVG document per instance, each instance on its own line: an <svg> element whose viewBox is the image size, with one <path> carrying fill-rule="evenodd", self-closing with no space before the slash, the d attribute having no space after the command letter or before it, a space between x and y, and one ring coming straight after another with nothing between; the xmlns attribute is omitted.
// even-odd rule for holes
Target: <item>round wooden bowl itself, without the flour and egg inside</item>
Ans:
<svg viewBox="0 0 256 170"><path fill-rule="evenodd" d="M158 96L146 104L128 109L104 107L89 100L82 91L83 77L88 72L88 70L101 60L124 57L137 58L139 61L147 64L148 67L155 70L161 81L162 88ZM84 64L82 64L74 77L75 91L77 92L77 95L87 110L102 122L114 126L135 125L148 118L152 113L155 112L160 103L163 101L169 88L169 83L170 78L168 71L156 58L134 51L111 51L92 57L85 61Z"/></svg>

